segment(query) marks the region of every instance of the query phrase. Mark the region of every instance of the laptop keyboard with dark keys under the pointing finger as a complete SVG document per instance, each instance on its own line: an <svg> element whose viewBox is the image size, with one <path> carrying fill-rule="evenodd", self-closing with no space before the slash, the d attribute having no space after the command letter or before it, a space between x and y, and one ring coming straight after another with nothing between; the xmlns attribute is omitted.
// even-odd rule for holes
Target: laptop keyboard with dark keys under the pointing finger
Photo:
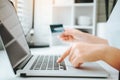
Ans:
<svg viewBox="0 0 120 80"><path fill-rule="evenodd" d="M41 55L36 58L30 70L66 70L65 62L57 63L59 56Z"/></svg>

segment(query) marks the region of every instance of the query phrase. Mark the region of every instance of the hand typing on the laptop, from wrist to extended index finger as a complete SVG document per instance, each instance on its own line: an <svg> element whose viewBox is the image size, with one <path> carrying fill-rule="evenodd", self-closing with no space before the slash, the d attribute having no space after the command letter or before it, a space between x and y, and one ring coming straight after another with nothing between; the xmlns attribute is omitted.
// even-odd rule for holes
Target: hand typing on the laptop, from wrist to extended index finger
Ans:
<svg viewBox="0 0 120 80"><path fill-rule="evenodd" d="M74 67L80 67L84 62L94 62L103 60L106 52L106 46L103 44L75 43L68 49L57 62L62 62L68 55L69 61Z"/></svg>

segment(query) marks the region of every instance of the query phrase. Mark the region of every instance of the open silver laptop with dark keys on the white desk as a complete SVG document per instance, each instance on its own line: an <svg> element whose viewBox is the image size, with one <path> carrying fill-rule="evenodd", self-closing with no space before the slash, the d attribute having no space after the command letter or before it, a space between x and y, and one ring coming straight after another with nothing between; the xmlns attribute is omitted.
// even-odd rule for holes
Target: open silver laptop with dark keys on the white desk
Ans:
<svg viewBox="0 0 120 80"><path fill-rule="evenodd" d="M10 12L5 13L8 9ZM68 59L58 64L56 60L60 55L32 55L16 12L8 0L0 0L0 36L14 73L21 77L107 78L109 76L109 73L95 62L85 63L82 68L74 68Z"/></svg>

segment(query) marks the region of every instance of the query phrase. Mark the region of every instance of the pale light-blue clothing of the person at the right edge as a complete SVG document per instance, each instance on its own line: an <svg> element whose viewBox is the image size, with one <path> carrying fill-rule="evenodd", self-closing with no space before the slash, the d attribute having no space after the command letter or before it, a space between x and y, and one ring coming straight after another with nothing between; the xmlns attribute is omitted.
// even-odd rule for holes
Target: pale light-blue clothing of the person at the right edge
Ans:
<svg viewBox="0 0 120 80"><path fill-rule="evenodd" d="M116 3L106 27L105 35L109 44L120 48L120 0Z"/></svg>

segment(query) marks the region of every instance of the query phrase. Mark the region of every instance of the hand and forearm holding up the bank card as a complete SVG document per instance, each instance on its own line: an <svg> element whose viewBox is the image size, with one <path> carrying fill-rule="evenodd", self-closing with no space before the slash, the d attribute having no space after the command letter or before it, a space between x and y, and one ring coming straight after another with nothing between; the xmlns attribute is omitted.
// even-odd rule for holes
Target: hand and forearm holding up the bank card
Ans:
<svg viewBox="0 0 120 80"><path fill-rule="evenodd" d="M87 42L94 44L108 44L106 40L93 36L88 33L81 32L76 29L66 29L60 35L60 39L67 42Z"/></svg>

